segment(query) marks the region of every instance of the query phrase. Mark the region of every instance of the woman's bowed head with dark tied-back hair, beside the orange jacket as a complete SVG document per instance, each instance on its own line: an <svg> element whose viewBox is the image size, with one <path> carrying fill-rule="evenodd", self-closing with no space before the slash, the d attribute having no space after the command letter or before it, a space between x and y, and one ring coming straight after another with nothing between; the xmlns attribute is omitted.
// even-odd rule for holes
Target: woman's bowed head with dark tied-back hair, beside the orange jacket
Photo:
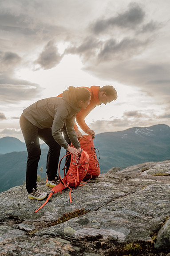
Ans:
<svg viewBox="0 0 170 256"><path fill-rule="evenodd" d="M75 106L79 105L79 101L86 102L91 96L90 91L83 87L75 88L74 86L69 86L68 89L68 99L70 102L74 102Z"/></svg>

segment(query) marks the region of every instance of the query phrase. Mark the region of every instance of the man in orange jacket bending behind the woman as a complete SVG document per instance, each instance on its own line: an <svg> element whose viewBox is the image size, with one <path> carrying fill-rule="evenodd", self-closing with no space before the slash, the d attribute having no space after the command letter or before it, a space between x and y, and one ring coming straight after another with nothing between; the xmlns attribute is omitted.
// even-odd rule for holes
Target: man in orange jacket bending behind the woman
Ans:
<svg viewBox="0 0 170 256"><path fill-rule="evenodd" d="M106 105L107 103L115 101L117 99L117 91L112 85L105 85L102 88L100 88L100 86L93 85L90 88L89 87L84 87L84 88L90 91L91 101L85 110L82 109L79 113L76 114L76 122L86 134L95 136L95 131L91 130L90 127L87 126L84 119L91 112L91 110L93 110L96 106L99 106L100 104ZM62 94L58 96L61 97ZM81 138L83 134L78 130L78 127L76 124L74 126L74 129L77 137ZM65 127L63 127L63 134L67 143L69 143L70 139L68 138Z"/></svg>

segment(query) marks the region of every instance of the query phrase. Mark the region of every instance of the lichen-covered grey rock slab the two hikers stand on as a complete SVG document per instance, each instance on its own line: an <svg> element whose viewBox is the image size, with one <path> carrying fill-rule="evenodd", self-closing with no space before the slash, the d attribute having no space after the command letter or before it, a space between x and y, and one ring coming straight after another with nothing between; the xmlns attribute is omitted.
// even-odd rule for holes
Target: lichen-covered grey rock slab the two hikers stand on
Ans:
<svg viewBox="0 0 170 256"><path fill-rule="evenodd" d="M44 201L25 185L0 193L0 255L169 254L170 160L113 167L72 191L72 203L66 189L37 213Z"/></svg>

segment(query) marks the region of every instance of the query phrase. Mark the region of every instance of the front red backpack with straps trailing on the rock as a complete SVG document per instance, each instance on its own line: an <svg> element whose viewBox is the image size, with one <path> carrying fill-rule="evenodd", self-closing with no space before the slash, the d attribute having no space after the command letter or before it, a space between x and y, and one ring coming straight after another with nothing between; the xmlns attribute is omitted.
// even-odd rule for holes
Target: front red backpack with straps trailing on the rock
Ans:
<svg viewBox="0 0 170 256"><path fill-rule="evenodd" d="M66 155L69 155L69 154L66 154ZM63 156L63 158L66 157L66 155ZM59 167L63 158L61 158L59 162ZM43 203L43 205L35 212L39 211L44 205L46 205L46 203L48 202L52 194L62 191L67 187L70 189L70 193L69 193L70 203L72 203L71 188L77 187L82 182L83 178L87 174L88 166L89 166L89 156L86 153L86 151L81 150L81 155L79 157L75 156L74 154L71 154L71 163L70 163L69 170L67 171L67 174L65 175L65 171L64 171L63 179L59 174L60 183L51 189L50 195L48 196L46 202Z"/></svg>

